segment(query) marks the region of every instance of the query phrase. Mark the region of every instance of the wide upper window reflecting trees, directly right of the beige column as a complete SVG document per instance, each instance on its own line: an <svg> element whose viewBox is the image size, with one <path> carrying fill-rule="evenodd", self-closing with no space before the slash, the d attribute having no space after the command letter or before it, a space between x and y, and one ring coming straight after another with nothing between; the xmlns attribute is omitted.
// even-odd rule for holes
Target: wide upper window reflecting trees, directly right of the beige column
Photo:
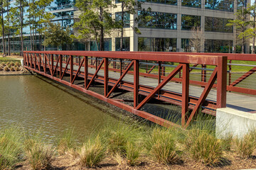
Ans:
<svg viewBox="0 0 256 170"><path fill-rule="evenodd" d="M177 14L139 11L138 12L139 28L162 28L177 29Z"/></svg>

